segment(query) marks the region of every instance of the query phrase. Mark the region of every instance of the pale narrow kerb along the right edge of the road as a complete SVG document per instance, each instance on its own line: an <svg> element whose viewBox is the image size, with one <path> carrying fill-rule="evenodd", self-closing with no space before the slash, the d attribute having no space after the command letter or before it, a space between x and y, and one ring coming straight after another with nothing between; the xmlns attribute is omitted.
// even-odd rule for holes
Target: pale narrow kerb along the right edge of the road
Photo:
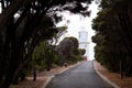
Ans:
<svg viewBox="0 0 132 88"><path fill-rule="evenodd" d="M95 61L94 61L94 64L95 64ZM111 86L113 86L114 88L120 88L118 85L116 85L113 81L109 80L106 76L103 76L101 73L99 73L95 65L94 65L94 69L96 70L96 73L105 80L107 81L108 84L110 84Z"/></svg>

